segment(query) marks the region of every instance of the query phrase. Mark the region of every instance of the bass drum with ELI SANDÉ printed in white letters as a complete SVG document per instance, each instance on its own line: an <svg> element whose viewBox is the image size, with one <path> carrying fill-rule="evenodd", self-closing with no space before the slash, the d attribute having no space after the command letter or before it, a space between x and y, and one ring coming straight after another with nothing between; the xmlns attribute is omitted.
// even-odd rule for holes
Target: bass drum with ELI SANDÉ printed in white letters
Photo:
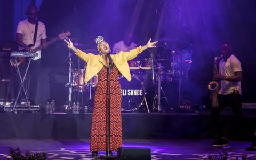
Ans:
<svg viewBox="0 0 256 160"><path fill-rule="evenodd" d="M127 81L125 77L120 77L122 95L122 111L134 111L141 106L145 98L145 87L135 77L131 81Z"/></svg>

